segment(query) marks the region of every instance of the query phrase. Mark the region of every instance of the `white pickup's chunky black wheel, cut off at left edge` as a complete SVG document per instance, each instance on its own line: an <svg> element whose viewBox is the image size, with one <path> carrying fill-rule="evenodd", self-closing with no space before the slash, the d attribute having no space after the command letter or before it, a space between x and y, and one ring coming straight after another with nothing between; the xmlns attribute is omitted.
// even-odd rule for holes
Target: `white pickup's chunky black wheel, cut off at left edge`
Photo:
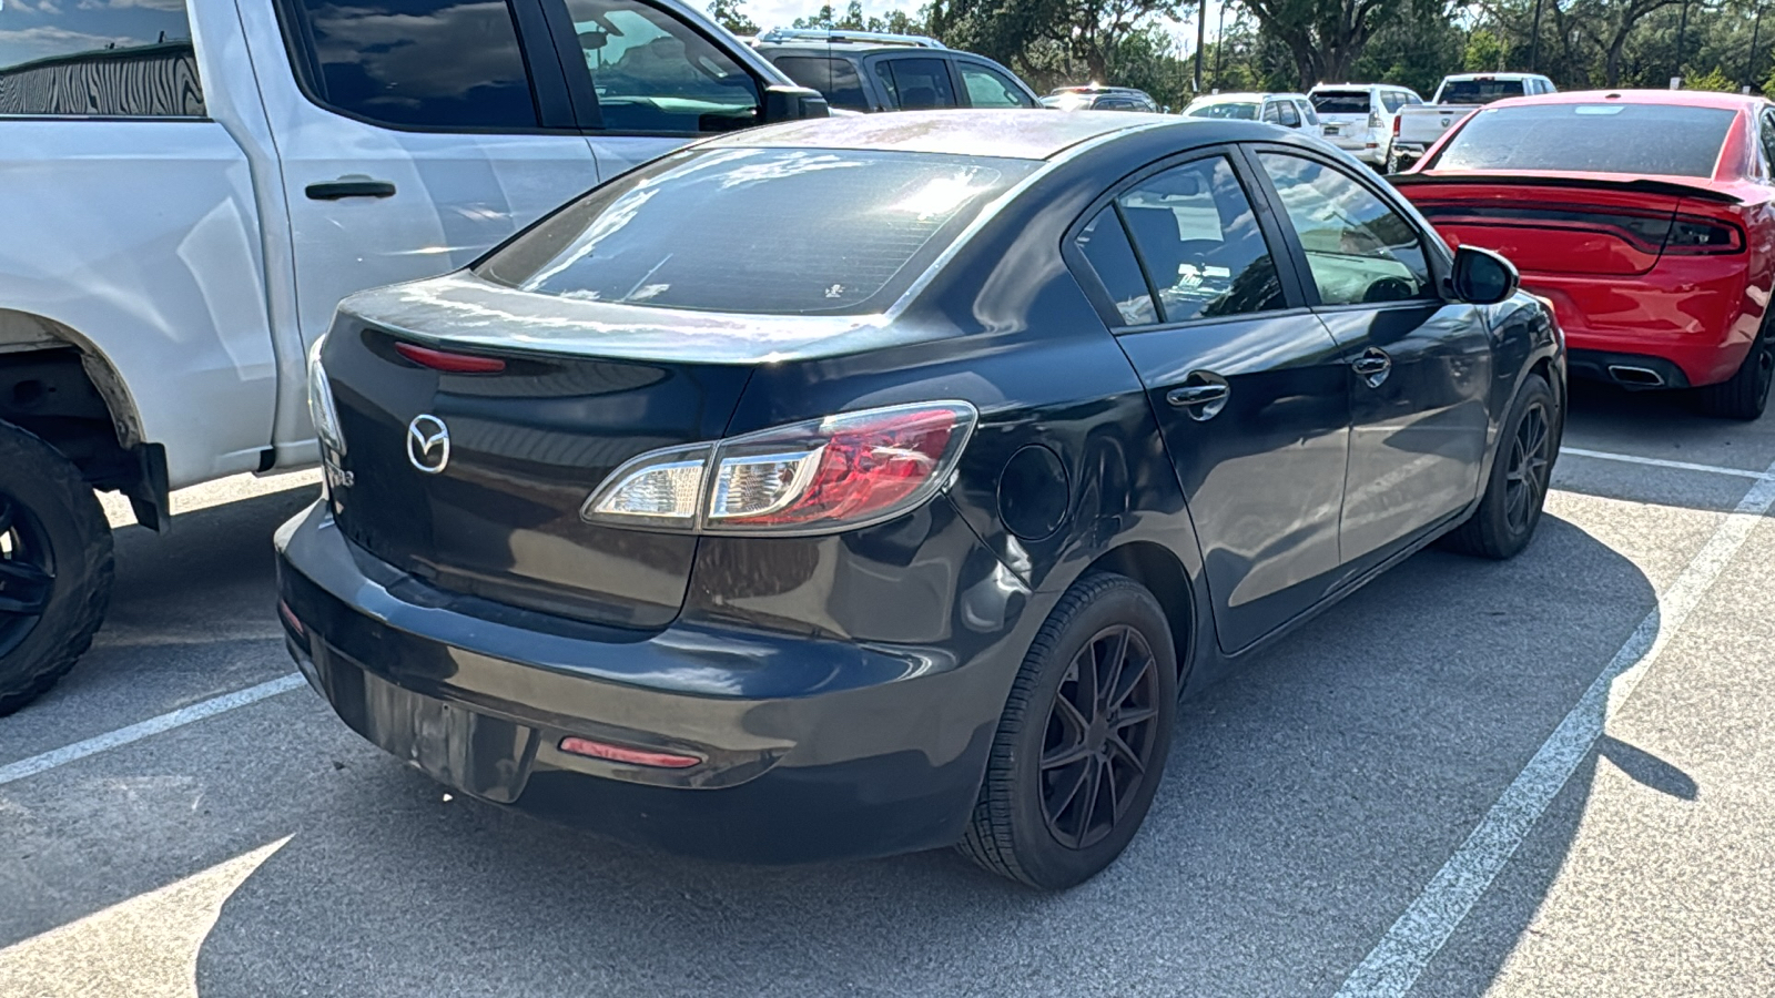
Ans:
<svg viewBox="0 0 1775 998"><path fill-rule="evenodd" d="M0 423L0 717L75 666L110 584L110 524L92 487L53 448Z"/></svg>

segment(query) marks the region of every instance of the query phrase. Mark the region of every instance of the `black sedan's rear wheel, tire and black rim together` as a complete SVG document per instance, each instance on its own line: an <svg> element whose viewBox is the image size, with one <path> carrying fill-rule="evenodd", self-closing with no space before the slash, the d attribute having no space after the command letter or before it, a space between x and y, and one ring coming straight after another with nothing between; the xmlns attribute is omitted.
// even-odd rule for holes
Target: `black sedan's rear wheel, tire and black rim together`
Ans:
<svg viewBox="0 0 1775 998"><path fill-rule="evenodd" d="M1042 890L1088 881L1145 820L1175 714L1159 602L1125 575L1081 579L1012 684L962 854Z"/></svg>

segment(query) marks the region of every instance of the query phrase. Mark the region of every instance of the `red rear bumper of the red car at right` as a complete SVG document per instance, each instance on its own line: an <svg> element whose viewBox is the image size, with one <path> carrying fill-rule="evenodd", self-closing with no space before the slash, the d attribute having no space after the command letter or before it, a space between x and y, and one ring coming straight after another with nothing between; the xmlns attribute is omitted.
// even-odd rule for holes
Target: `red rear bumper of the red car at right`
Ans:
<svg viewBox="0 0 1775 998"><path fill-rule="evenodd" d="M1720 257L1667 256L1631 277L1526 272L1523 288L1553 302L1574 359L1656 357L1676 364L1690 385L1738 371L1766 307L1752 291L1748 257L1722 266Z"/></svg>

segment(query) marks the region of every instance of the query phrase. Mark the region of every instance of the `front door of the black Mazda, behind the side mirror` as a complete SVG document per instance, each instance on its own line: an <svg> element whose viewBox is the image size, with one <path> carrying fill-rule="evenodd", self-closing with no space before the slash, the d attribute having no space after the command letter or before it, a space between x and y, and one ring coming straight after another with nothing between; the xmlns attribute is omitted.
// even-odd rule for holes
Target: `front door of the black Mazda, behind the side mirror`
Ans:
<svg viewBox="0 0 1775 998"><path fill-rule="evenodd" d="M1491 334L1443 298L1429 236L1370 185L1299 151L1251 153L1273 185L1314 311L1347 360L1349 490L1340 543L1363 572L1477 494Z"/></svg>

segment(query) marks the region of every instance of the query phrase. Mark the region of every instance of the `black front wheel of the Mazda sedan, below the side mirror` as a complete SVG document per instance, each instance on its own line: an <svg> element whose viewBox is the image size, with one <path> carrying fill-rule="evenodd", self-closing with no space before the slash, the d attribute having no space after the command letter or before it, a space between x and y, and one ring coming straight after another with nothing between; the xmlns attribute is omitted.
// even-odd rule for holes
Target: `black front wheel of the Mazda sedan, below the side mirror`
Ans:
<svg viewBox="0 0 1775 998"><path fill-rule="evenodd" d="M1498 433L1491 478L1479 508L1443 538L1477 558L1514 558L1535 536L1562 433L1558 400L1541 375L1528 375Z"/></svg>

